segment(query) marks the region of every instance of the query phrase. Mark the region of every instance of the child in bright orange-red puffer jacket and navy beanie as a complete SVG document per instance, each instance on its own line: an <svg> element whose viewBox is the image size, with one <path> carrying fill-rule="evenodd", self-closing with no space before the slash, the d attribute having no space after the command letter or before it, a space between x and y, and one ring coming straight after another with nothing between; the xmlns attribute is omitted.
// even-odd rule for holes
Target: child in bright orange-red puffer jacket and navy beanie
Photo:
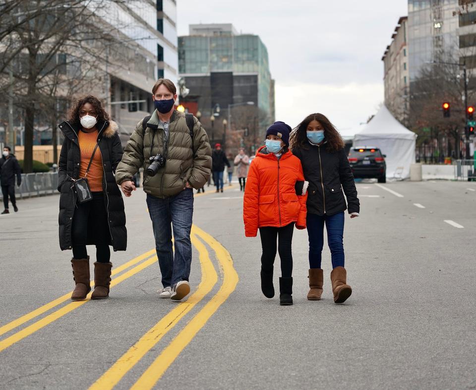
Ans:
<svg viewBox="0 0 476 390"><path fill-rule="evenodd" d="M243 198L246 237L256 237L261 256L261 291L274 297L273 264L276 250L281 259L280 304L293 304L293 231L306 228L307 182L299 159L289 150L291 127L275 122L266 130L266 144L251 162ZM278 245L276 246L276 240Z"/></svg>

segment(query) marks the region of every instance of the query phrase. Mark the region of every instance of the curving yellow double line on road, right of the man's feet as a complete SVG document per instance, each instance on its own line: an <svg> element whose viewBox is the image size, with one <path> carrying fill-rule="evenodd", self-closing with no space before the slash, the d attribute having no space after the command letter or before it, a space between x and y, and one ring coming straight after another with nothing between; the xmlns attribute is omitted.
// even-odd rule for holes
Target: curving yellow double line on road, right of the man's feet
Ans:
<svg viewBox="0 0 476 390"><path fill-rule="evenodd" d="M205 246L197 240L196 236L199 236L203 241L205 241L216 254L216 258L220 263L220 271L223 273L223 282L220 290L179 332L179 334L154 360L149 368L147 368L147 370L140 376L131 389L143 390L153 388L177 356L179 356L180 352L188 345L198 331L235 290L238 283L238 274L233 267L233 260L230 254L212 236L196 226L193 226L191 239L193 245L200 253L200 263L203 274L203 280L200 283L198 290L186 302L180 303L177 308L172 310L172 312L150 328L89 388L89 390L113 389L122 377L127 374L127 372L132 369L170 329L177 325L179 320L185 316L186 313L188 313L213 289L213 286L217 282L217 273L208 256Z"/></svg>

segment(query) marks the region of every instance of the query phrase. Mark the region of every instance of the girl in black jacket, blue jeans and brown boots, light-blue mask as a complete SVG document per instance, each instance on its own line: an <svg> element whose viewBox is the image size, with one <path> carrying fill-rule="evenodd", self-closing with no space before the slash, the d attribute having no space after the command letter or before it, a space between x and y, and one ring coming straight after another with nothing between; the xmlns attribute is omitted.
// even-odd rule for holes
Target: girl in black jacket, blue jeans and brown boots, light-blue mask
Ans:
<svg viewBox="0 0 476 390"><path fill-rule="evenodd" d="M293 132L291 148L301 161L305 180L309 182L307 233L310 290L307 299L317 301L322 294L321 258L325 225L331 250L334 302L343 303L352 294L344 268L344 211L349 208L351 218L355 218L360 208L344 141L324 115L311 114Z"/></svg>

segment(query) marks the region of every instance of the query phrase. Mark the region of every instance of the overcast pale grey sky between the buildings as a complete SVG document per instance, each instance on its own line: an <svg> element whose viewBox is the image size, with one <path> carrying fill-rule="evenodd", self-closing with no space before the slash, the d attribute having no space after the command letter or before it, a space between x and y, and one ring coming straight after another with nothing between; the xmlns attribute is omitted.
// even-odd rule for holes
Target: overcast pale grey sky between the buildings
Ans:
<svg viewBox="0 0 476 390"><path fill-rule="evenodd" d="M314 112L340 130L383 102L382 55L407 0L178 0L178 34L195 23L233 23L259 35L276 80L276 120L296 126Z"/></svg>

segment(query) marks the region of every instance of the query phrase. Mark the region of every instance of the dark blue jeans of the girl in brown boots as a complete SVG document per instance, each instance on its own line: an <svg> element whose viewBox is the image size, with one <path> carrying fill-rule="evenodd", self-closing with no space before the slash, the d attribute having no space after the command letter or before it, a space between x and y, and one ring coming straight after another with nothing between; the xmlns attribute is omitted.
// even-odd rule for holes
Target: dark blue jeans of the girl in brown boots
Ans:
<svg viewBox="0 0 476 390"><path fill-rule="evenodd" d="M331 250L332 268L344 266L344 212L334 215L307 214L307 234L309 236L309 268L320 268L324 246L324 223L327 230L327 244Z"/></svg>

